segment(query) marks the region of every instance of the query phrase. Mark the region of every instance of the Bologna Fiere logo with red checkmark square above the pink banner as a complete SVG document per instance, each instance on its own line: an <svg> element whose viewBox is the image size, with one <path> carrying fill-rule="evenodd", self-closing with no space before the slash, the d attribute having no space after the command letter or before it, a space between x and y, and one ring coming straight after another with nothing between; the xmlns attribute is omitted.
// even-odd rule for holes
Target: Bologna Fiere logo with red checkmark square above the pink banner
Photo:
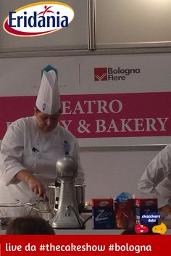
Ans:
<svg viewBox="0 0 171 256"><path fill-rule="evenodd" d="M140 68L94 67L94 80L125 80L128 75L135 75L139 73Z"/></svg>

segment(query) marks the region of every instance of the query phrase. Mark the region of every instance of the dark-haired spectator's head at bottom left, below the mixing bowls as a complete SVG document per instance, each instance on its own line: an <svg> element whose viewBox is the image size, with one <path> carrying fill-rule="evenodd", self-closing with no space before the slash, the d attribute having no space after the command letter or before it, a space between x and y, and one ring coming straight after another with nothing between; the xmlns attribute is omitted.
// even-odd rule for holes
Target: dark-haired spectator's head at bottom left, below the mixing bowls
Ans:
<svg viewBox="0 0 171 256"><path fill-rule="evenodd" d="M25 215L14 218L7 225L7 235L54 235L54 228L39 216Z"/></svg>

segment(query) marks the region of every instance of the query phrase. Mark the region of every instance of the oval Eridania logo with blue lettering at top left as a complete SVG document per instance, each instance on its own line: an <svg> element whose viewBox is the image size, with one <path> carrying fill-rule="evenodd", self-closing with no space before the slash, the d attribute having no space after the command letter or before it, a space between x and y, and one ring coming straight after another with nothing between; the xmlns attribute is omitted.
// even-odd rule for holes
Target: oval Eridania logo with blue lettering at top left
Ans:
<svg viewBox="0 0 171 256"><path fill-rule="evenodd" d="M42 36L68 27L73 9L57 1L41 1L9 12L4 30L14 36Z"/></svg>

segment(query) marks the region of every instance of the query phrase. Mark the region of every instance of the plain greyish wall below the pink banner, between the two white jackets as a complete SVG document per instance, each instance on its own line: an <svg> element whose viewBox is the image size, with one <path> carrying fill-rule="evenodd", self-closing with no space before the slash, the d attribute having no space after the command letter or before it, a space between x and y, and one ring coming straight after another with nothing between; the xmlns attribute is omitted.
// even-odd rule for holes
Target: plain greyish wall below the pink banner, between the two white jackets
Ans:
<svg viewBox="0 0 171 256"><path fill-rule="evenodd" d="M86 173L86 201L115 197L122 191L137 194L137 183L158 151L81 152Z"/></svg>

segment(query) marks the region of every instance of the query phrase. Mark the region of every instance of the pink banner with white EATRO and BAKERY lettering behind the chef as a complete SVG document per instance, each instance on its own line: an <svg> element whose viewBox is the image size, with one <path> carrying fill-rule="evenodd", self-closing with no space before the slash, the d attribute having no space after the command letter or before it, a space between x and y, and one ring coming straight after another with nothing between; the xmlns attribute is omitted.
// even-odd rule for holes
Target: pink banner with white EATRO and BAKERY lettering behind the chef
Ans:
<svg viewBox="0 0 171 256"><path fill-rule="evenodd" d="M63 95L60 123L77 138L171 136L171 92ZM0 139L33 115L36 96L0 98Z"/></svg>

